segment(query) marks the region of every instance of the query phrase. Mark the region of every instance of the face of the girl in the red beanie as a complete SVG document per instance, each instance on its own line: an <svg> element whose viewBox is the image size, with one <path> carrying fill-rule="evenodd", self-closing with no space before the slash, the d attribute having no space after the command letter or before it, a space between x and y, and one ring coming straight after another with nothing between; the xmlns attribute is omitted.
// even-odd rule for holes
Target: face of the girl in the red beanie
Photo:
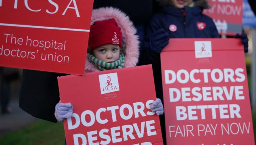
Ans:
<svg viewBox="0 0 256 145"><path fill-rule="evenodd" d="M94 48L92 55L104 62L115 62L119 59L120 46L113 44L106 44Z"/></svg>

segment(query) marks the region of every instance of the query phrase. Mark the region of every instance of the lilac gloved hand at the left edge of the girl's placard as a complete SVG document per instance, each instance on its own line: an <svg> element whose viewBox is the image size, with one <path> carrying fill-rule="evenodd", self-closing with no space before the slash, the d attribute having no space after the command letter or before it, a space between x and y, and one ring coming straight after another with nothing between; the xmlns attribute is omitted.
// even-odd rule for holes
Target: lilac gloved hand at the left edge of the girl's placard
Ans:
<svg viewBox="0 0 256 145"><path fill-rule="evenodd" d="M69 118L73 114L73 106L71 103L58 103L55 106L55 117L59 122L63 122L64 118Z"/></svg>

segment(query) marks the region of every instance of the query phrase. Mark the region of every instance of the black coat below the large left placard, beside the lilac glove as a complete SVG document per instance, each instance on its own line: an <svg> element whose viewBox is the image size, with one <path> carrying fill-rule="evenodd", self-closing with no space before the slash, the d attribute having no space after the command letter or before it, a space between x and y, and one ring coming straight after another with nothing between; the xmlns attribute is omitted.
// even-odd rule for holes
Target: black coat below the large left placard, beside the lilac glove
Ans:
<svg viewBox="0 0 256 145"><path fill-rule="evenodd" d="M57 77L61 73L23 70L19 107L36 118L57 122L54 112L59 102Z"/></svg>

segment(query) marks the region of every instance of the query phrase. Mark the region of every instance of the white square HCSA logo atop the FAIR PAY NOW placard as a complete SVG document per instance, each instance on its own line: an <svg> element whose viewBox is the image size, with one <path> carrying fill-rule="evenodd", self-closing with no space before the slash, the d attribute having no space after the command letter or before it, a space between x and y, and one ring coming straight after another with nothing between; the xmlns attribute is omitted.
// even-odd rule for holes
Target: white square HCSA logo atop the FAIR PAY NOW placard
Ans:
<svg viewBox="0 0 256 145"><path fill-rule="evenodd" d="M195 58L212 57L211 41L195 41Z"/></svg>

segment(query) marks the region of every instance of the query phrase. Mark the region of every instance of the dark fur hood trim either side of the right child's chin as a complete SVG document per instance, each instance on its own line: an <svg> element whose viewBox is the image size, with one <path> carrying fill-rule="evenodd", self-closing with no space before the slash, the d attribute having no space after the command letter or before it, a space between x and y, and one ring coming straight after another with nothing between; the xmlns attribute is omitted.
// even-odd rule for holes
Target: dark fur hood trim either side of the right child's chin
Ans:
<svg viewBox="0 0 256 145"><path fill-rule="evenodd" d="M172 0L156 0L159 6L173 6ZM201 8L208 9L210 4L208 0L193 0L194 6L200 6Z"/></svg>

